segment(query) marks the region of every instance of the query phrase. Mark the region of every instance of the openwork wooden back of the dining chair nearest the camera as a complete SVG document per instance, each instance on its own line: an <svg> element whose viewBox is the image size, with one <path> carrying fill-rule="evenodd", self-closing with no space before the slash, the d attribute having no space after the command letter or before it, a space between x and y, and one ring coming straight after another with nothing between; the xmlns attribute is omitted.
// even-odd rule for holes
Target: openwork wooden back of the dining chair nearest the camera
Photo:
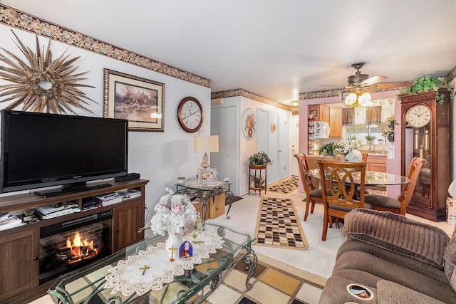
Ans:
<svg viewBox="0 0 456 304"><path fill-rule="evenodd" d="M319 162L323 204L336 204L353 208L364 208L366 187L366 162L334 162L322 159ZM356 184L353 175L358 175Z"/></svg>

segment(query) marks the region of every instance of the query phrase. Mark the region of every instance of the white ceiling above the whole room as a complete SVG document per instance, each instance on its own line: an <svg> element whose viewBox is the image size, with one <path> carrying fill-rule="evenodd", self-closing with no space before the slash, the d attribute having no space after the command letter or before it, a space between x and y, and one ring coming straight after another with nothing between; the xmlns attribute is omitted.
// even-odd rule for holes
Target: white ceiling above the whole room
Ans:
<svg viewBox="0 0 456 304"><path fill-rule="evenodd" d="M456 66L455 0L0 0L279 103L343 87L366 62L384 82L447 75Z"/></svg>

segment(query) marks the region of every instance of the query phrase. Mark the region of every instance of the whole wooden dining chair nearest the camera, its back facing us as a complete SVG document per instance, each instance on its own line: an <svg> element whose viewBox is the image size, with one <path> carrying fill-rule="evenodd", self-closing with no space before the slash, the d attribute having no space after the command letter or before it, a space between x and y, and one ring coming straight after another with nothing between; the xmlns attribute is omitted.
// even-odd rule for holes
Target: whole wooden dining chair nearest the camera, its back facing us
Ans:
<svg viewBox="0 0 456 304"><path fill-rule="evenodd" d="M356 208L371 209L371 204L364 201L364 187L366 186L366 162L334 162L322 159L320 166L324 214L323 234L321 241L326 241L328 225L332 227L333 218L343 219L350 211ZM359 182L353 179L359 175Z"/></svg>

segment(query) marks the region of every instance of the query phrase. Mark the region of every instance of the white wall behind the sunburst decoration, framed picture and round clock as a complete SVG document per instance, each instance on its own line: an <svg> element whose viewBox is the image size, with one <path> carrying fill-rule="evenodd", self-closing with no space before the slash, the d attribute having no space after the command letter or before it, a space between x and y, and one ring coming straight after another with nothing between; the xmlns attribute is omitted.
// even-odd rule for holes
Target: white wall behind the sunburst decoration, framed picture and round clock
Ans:
<svg viewBox="0 0 456 304"><path fill-rule="evenodd" d="M36 47L35 36L26 31L13 29L22 43L34 51ZM0 24L0 37L2 48L25 60L12 40L14 36L9 26ZM47 46L48 38L41 36L38 36L38 38L41 48L43 45ZM146 187L145 200L151 211L160 196L165 194L165 187L175 189L174 182L176 177L195 176L197 159L199 160L202 155L193 152L193 137L195 134L183 131L178 125L177 105L186 96L197 98L204 108L204 123L201 130L209 134L211 119L210 88L188 83L187 81L156 73L123 61L100 56L58 41L51 41L51 51L53 58L57 58L64 51L71 58L81 56L75 63L75 65L79 66L77 73L88 71L85 75L88 79L83 83L95 86L95 88L82 88L82 90L89 98L98 102L98 105L90 103L89 107L97 117L103 117L103 68L165 83L165 132L129 132L128 171L138 172L141 174L142 179L150 180ZM4 51L0 51L0 53L4 54ZM5 83L6 81L0 80L0 85ZM1 99L3 100L4 98ZM0 103L0 108L3 109L8 104ZM16 110L21 109L16 108ZM90 112L83 110L76 110L76 112L79 115L93 116ZM149 220L150 214L146 212L146 216L148 216L147 220Z"/></svg>

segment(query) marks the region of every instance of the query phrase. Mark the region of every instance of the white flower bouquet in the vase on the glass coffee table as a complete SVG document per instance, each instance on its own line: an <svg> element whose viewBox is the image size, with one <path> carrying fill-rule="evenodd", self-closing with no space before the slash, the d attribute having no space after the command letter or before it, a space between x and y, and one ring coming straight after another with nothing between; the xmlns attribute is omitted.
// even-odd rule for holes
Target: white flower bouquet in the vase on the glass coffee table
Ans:
<svg viewBox="0 0 456 304"><path fill-rule="evenodd" d="M150 229L154 234L165 235L180 234L185 236L190 234L197 221L197 210L193 206L188 196L185 194L175 194L171 189L166 188L168 194L162 196L155 205L155 215L150 220Z"/></svg>

